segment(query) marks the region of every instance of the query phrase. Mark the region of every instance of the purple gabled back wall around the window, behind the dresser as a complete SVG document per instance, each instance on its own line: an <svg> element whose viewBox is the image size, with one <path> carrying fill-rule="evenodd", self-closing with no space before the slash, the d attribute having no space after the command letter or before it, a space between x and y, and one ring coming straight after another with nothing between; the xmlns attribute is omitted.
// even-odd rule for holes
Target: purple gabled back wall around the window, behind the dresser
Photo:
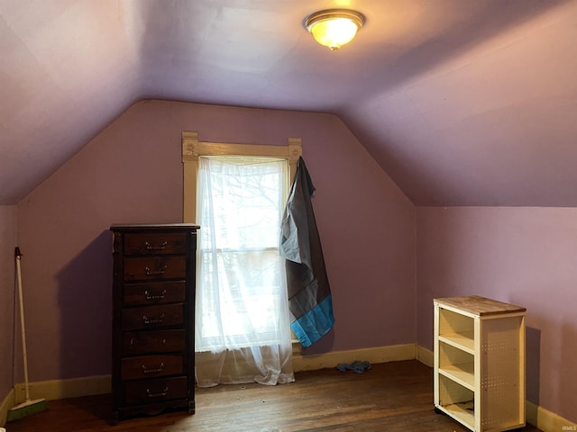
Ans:
<svg viewBox="0 0 577 432"><path fill-rule="evenodd" d="M33 299L32 381L110 372L107 229L182 220L182 130L196 130L206 141L302 139L336 318L334 330L309 353L415 341L415 209L342 121L310 112L143 101L18 205Z"/></svg>

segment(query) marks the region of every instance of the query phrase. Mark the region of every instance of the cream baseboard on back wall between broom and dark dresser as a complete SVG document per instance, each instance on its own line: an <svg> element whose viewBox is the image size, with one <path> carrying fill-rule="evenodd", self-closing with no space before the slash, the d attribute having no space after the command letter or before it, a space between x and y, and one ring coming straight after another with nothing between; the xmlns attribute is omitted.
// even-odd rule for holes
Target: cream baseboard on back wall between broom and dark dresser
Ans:
<svg viewBox="0 0 577 432"><path fill-rule="evenodd" d="M84 378L72 378L69 380L38 381L30 383L30 397L32 399L45 399L56 401L58 399L78 398L92 394L105 394L111 392L110 375L87 376ZM24 384L14 386L15 403L26 400Z"/></svg>

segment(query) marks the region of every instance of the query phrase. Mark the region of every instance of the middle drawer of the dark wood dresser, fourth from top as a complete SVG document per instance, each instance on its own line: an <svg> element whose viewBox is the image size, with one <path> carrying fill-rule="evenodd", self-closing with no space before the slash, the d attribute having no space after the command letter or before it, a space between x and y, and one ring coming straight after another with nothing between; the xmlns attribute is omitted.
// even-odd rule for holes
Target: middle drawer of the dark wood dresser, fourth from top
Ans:
<svg viewBox="0 0 577 432"><path fill-rule="evenodd" d="M178 303L124 309L122 314L124 331L174 327L184 322L184 305Z"/></svg>

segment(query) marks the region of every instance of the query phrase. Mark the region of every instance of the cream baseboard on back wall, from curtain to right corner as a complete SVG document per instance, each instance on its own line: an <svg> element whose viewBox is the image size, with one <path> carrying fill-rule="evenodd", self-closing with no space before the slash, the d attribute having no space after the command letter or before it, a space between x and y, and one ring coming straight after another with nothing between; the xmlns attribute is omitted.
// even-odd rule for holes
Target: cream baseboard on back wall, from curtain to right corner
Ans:
<svg viewBox="0 0 577 432"><path fill-rule="evenodd" d="M350 351L332 351L316 356L297 355L292 357L292 365L295 372L300 372L335 367L341 363L353 363L355 360L368 361L369 363L388 363L414 359L415 344L405 344Z"/></svg>

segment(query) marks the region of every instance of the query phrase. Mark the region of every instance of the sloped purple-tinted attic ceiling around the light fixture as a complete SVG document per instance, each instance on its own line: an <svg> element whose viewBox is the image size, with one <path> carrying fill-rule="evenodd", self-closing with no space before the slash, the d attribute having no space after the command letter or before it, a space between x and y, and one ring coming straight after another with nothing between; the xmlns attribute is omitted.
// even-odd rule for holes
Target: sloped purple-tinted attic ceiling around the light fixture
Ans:
<svg viewBox="0 0 577 432"><path fill-rule="evenodd" d="M417 205L577 206L576 49L575 0L0 0L0 204L158 98L332 112Z"/></svg>

